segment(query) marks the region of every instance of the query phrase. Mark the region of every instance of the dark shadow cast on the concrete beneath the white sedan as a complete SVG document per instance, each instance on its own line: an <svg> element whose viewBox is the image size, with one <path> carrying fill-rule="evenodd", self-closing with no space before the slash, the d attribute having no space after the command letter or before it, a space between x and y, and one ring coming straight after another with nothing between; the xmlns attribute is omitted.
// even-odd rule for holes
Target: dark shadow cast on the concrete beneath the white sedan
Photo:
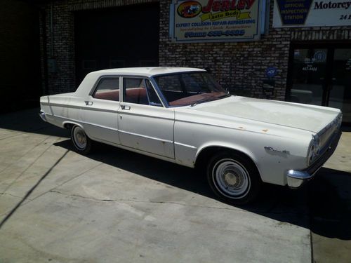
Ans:
<svg viewBox="0 0 351 263"><path fill-rule="evenodd" d="M74 151L70 140L55 146ZM89 158L164 184L192 191L218 200L205 180L192 168L178 166L149 156L133 153L106 144L97 144ZM138 160L138 165L135 165ZM338 177L338 180L334 180ZM300 189L289 189L265 184L260 198L250 205L237 206L251 213L263 215L279 224L294 224L311 229L329 238L351 239L351 173L322 168L309 184ZM219 201L219 200L218 200Z"/></svg>

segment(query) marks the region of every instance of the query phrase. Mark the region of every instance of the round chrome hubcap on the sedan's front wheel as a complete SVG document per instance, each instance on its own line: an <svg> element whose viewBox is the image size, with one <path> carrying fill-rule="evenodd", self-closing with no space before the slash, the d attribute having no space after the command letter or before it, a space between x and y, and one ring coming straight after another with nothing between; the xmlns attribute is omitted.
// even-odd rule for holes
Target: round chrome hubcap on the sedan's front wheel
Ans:
<svg viewBox="0 0 351 263"><path fill-rule="evenodd" d="M242 198L250 189L250 177L241 163L223 159L213 167L213 182L221 194L229 198Z"/></svg>

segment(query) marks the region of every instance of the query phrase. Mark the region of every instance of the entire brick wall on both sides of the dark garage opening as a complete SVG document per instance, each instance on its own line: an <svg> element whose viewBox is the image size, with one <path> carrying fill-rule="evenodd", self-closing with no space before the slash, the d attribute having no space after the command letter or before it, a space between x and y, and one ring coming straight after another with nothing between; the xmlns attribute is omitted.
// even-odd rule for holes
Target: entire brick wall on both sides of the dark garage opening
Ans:
<svg viewBox="0 0 351 263"><path fill-rule="evenodd" d="M50 57L51 44L58 71L48 74L49 93L75 90L74 78L74 11L144 4L159 0L67 0L53 1L53 30L50 34L51 5L44 6L46 19L46 52ZM296 29L272 28L273 0L270 26L260 41L227 43L172 43L168 34L168 8L171 0L160 3L159 65L209 68L213 76L225 85L241 90L252 97L262 97L265 69L277 67L274 77L277 100L284 100L291 41L332 41L351 39L350 27L305 27Z"/></svg>

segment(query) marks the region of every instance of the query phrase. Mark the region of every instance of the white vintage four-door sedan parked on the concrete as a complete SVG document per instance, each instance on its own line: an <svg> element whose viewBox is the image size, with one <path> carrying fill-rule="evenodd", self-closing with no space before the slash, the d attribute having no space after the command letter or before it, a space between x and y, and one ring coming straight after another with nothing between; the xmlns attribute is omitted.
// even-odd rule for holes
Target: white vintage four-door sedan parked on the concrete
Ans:
<svg viewBox="0 0 351 263"><path fill-rule="evenodd" d="M41 118L88 154L105 142L200 168L224 201L252 201L263 182L300 187L336 149L339 109L229 95L203 69L91 72L74 93L41 97Z"/></svg>

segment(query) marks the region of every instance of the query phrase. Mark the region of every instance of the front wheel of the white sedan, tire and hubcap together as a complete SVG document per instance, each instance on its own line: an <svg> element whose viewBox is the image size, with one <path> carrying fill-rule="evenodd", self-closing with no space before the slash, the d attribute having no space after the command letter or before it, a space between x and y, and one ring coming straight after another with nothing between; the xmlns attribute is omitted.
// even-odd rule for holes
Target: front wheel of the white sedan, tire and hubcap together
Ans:
<svg viewBox="0 0 351 263"><path fill-rule="evenodd" d="M209 160L207 180L216 196L234 205L254 201L262 184L255 164L246 156L230 151L215 154Z"/></svg>

